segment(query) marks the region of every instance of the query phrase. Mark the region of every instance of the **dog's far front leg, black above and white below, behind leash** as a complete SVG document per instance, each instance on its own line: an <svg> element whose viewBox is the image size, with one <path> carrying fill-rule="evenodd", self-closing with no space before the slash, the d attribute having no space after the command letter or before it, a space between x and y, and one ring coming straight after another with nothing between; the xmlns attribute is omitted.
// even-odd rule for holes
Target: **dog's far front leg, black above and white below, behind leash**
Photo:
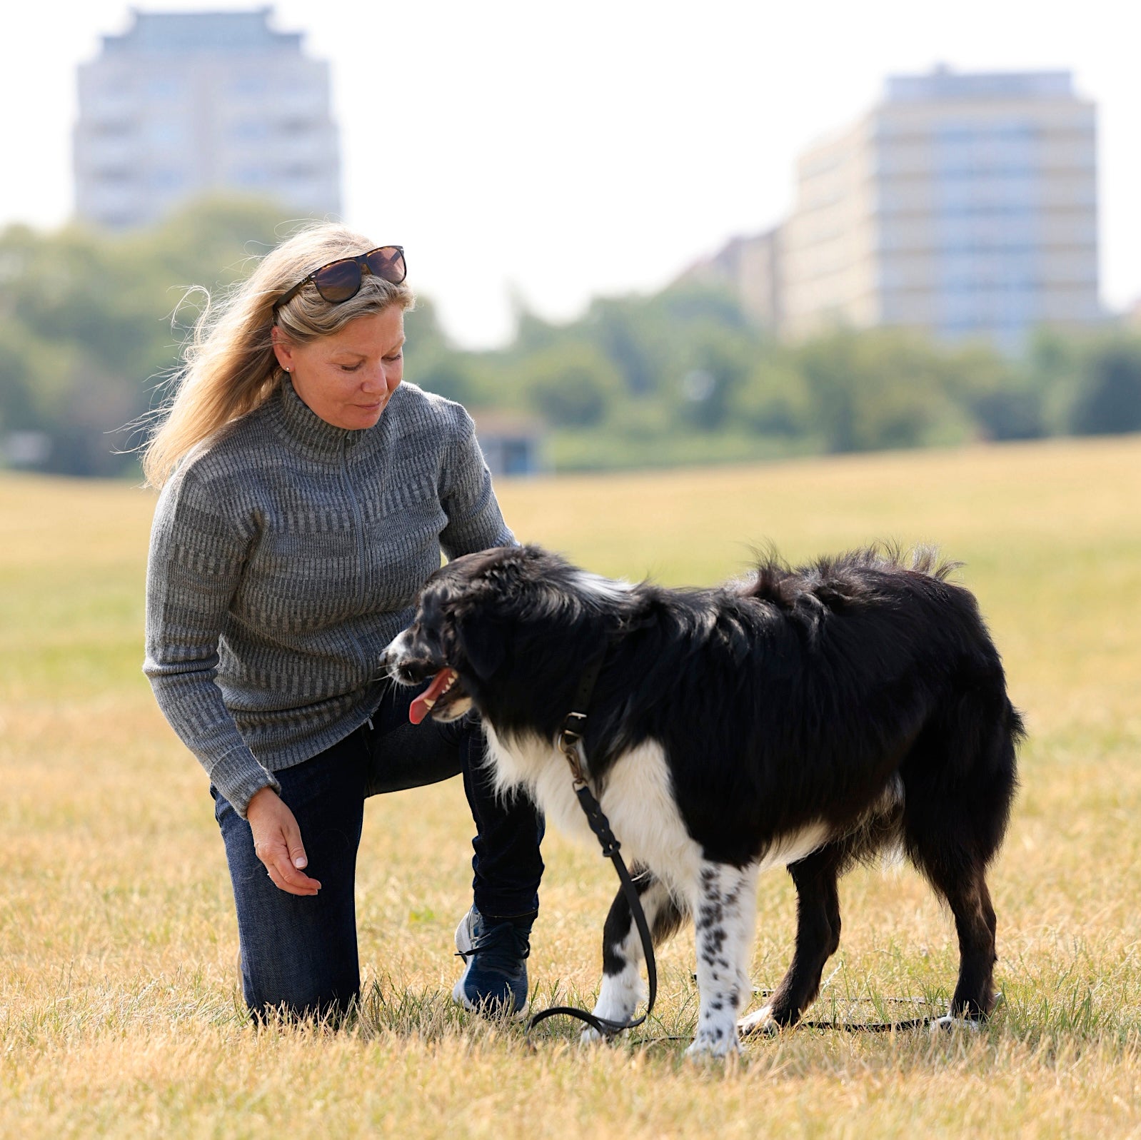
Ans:
<svg viewBox="0 0 1141 1140"><path fill-rule="evenodd" d="M685 908L645 867L633 868L633 882L654 945L659 946L685 922ZM626 896L620 890L602 930L602 985L594 1017L617 1022L630 1020L639 1002L646 997L639 969L644 957L641 936L634 925ZM597 1041L598 1036L594 1029L584 1029L582 1034L583 1041Z"/></svg>

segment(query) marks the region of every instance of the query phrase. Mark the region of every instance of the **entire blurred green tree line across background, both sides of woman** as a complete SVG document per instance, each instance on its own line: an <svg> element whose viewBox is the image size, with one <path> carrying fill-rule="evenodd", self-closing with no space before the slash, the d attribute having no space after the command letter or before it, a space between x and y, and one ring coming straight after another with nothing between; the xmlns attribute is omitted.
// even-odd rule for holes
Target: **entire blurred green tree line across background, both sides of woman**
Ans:
<svg viewBox="0 0 1141 1140"><path fill-rule="evenodd" d="M128 426L177 365L187 290L243 277L278 218L234 200L128 236L0 233L0 443L39 434L40 469L133 472ZM521 312L495 351L450 345L426 300L407 331L408 379L532 417L564 470L1141 430L1141 334L1112 328L1041 332L1019 359L888 329L783 343L730 297L678 286L566 325Z"/></svg>

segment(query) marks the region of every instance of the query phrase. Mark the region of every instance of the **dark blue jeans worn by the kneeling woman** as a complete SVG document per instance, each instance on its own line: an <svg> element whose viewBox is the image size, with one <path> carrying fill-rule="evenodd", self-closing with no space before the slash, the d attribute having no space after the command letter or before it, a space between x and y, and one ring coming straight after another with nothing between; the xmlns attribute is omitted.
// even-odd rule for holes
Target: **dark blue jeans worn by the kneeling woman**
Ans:
<svg viewBox="0 0 1141 1140"><path fill-rule="evenodd" d="M480 914L513 917L539 909L542 816L526 797L503 803L482 767L483 734L469 719L408 722L413 689L386 693L367 725L304 763L275 773L301 828L308 874L321 891L300 897L269 880L250 825L213 787L226 844L242 948L242 988L254 1016L337 1016L359 993L356 855L369 795L463 775L476 822L472 889Z"/></svg>

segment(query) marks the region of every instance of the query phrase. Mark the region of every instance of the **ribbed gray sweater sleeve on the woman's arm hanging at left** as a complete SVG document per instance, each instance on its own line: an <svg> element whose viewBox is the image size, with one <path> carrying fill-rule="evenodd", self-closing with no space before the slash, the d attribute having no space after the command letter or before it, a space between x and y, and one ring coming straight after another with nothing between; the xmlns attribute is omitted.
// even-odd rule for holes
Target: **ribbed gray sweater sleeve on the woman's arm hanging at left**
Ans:
<svg viewBox="0 0 1141 1140"><path fill-rule="evenodd" d="M193 468L159 499L151 532L143 670L171 728L241 814L277 781L246 746L215 682L218 639L252 535L222 514Z"/></svg>

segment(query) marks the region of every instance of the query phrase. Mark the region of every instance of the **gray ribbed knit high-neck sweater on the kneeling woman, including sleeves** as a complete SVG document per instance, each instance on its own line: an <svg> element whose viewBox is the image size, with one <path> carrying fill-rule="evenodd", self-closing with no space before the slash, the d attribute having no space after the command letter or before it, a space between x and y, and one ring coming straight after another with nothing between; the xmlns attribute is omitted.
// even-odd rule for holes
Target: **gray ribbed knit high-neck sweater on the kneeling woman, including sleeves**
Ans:
<svg viewBox="0 0 1141 1140"><path fill-rule="evenodd" d="M245 814L272 773L375 709L377 662L448 558L511 542L459 405L400 385L378 423L334 428L289 378L163 487L147 564L159 706Z"/></svg>

